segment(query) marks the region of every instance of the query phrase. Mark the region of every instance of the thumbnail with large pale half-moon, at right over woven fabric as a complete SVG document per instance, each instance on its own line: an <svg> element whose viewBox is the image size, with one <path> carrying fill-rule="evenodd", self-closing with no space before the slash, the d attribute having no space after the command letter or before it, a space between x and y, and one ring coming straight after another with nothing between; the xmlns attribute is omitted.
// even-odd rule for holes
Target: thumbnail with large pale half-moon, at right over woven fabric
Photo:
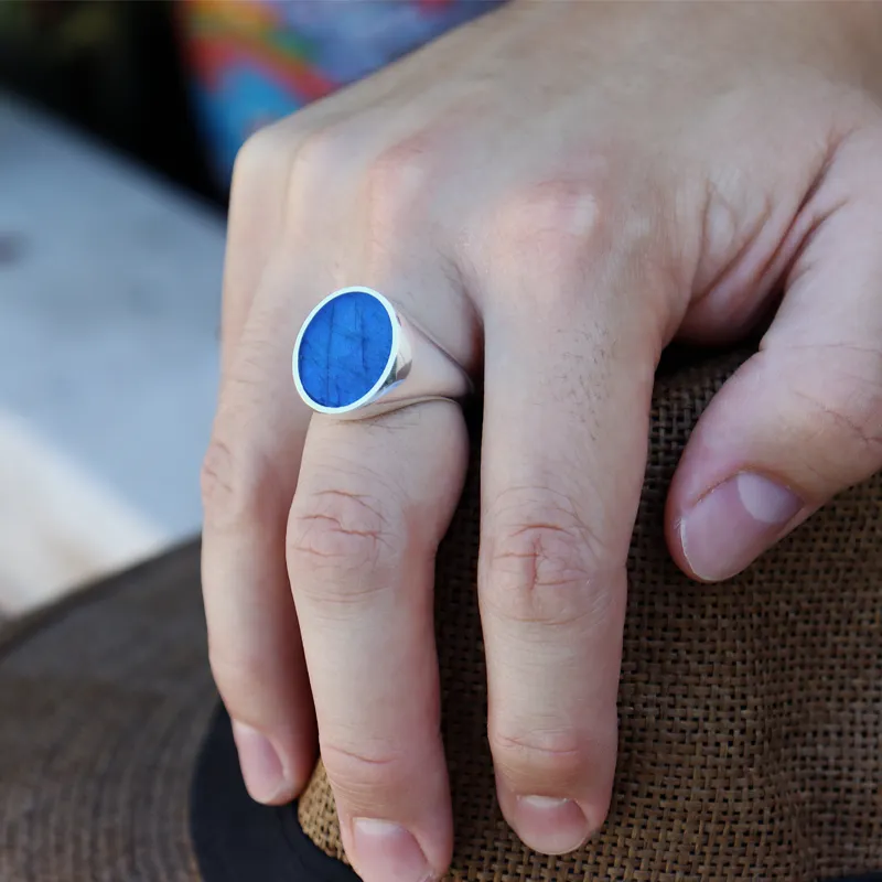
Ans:
<svg viewBox="0 0 882 882"><path fill-rule="evenodd" d="M689 567L708 582L741 572L778 538L803 505L787 487L762 475L741 472L730 477L680 521Z"/></svg>

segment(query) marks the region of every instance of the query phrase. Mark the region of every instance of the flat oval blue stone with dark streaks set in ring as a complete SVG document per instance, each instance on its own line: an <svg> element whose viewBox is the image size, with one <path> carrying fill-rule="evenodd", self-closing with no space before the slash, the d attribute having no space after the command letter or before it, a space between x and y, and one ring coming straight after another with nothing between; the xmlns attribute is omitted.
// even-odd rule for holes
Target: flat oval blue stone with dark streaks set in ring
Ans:
<svg viewBox="0 0 882 882"><path fill-rule="evenodd" d="M367 291L348 291L312 316L300 341L297 369L306 395L323 407L347 407L383 376L392 325Z"/></svg>

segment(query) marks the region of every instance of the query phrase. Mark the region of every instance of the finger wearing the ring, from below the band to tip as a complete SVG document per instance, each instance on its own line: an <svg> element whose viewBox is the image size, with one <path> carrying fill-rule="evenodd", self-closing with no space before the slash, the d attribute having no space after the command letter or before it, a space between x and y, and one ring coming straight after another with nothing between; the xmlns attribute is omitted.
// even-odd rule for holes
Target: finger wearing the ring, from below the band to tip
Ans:
<svg viewBox="0 0 882 882"><path fill-rule="evenodd" d="M444 401L316 417L306 438L288 566L343 843L366 882L422 882L450 860L432 582L465 463Z"/></svg>

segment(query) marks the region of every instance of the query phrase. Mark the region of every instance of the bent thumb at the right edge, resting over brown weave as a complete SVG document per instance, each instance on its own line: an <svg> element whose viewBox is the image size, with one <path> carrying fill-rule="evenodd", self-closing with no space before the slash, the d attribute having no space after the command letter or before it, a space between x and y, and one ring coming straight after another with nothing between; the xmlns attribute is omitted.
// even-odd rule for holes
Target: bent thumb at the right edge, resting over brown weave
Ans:
<svg viewBox="0 0 882 882"><path fill-rule="evenodd" d="M760 351L699 420L668 545L727 579L882 467L882 135L853 136L807 206L813 230Z"/></svg>

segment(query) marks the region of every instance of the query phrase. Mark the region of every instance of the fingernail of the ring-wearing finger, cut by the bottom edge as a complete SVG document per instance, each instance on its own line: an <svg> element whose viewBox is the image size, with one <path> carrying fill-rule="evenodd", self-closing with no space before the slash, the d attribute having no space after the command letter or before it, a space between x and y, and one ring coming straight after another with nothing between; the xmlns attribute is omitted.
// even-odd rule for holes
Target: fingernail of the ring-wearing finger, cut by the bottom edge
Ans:
<svg viewBox="0 0 882 882"><path fill-rule="evenodd" d="M434 879L419 843L388 820L356 818L355 861L364 882L430 882Z"/></svg>

